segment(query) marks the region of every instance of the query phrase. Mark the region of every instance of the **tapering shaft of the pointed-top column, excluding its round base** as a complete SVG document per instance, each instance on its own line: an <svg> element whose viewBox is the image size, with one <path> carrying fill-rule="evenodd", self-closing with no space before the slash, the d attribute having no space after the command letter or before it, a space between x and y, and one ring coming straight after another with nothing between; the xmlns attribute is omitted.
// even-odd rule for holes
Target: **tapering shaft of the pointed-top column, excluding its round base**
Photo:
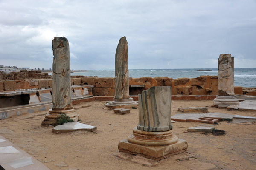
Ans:
<svg viewBox="0 0 256 170"><path fill-rule="evenodd" d="M129 99L128 42L122 37L116 48L114 99Z"/></svg>

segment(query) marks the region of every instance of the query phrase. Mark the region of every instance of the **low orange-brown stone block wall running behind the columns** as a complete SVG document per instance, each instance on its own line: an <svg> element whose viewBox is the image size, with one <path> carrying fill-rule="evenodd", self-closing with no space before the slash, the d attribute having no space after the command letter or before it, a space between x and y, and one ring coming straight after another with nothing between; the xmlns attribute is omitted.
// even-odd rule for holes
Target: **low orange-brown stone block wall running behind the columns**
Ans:
<svg viewBox="0 0 256 170"><path fill-rule="evenodd" d="M115 78L113 77L85 77L71 76L71 85L92 85L93 96L114 96ZM129 85L143 85L144 87L130 87L130 95L140 94L141 91L152 86L172 86L172 95L217 95L218 77L200 76L197 78L168 77L140 77L129 78ZM52 79L26 79L0 81L0 92L15 91L20 89L52 88ZM234 87L235 94L254 95L256 88Z"/></svg>

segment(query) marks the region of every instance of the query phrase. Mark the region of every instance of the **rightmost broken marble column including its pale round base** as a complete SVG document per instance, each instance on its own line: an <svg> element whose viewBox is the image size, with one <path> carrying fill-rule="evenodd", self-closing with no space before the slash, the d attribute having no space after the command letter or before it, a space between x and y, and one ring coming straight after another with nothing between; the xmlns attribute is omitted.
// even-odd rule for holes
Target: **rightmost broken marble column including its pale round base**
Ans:
<svg viewBox="0 0 256 170"><path fill-rule="evenodd" d="M218 95L214 105L239 105L234 93L234 57L220 54L218 58Z"/></svg>

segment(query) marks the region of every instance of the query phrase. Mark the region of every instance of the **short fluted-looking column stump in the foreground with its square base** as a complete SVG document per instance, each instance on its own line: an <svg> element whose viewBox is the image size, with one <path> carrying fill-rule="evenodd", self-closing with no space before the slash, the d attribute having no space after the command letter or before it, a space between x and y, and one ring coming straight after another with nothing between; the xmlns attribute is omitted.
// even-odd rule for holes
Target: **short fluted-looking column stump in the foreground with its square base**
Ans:
<svg viewBox="0 0 256 170"><path fill-rule="evenodd" d="M139 94L139 123L120 152L160 160L187 150L187 142L172 134L171 87L151 87Z"/></svg>

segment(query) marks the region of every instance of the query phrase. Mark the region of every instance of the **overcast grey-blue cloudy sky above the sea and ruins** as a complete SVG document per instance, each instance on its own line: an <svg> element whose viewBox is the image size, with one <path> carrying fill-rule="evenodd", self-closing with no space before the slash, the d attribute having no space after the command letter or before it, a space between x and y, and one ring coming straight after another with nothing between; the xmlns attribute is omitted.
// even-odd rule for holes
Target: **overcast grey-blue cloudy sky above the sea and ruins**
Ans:
<svg viewBox="0 0 256 170"><path fill-rule="evenodd" d="M256 67L256 0L0 0L0 65L52 68L62 36L73 70L114 69L123 36L129 69Z"/></svg>

